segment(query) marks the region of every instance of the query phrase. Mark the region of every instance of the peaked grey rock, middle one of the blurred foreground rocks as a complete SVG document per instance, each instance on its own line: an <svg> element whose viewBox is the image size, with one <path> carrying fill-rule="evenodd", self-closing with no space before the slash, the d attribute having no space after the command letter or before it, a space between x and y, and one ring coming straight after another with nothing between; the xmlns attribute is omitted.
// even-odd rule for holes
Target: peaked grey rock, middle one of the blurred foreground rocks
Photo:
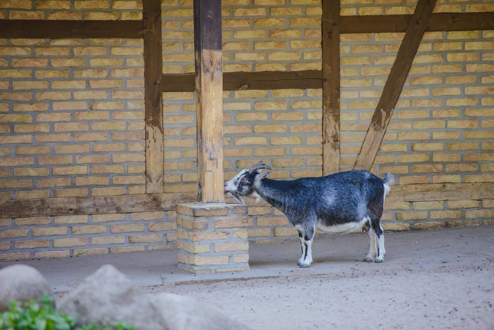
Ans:
<svg viewBox="0 0 494 330"><path fill-rule="evenodd" d="M57 310L76 314L78 326L126 322L136 330L168 330L151 300L112 265L104 265L58 303Z"/></svg>

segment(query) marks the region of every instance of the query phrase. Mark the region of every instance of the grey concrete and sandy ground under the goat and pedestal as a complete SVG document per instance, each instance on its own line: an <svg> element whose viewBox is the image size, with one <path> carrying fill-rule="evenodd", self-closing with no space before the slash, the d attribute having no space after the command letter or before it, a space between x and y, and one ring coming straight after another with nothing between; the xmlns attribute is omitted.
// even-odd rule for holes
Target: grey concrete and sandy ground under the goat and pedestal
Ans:
<svg viewBox="0 0 494 330"><path fill-rule="evenodd" d="M195 297L253 329L494 329L494 225L385 233L383 263L366 234L326 236L296 266L297 240L249 247L249 272L191 275L176 250L26 260L57 295L103 264L148 292ZM1 262L0 267L12 264Z"/></svg>

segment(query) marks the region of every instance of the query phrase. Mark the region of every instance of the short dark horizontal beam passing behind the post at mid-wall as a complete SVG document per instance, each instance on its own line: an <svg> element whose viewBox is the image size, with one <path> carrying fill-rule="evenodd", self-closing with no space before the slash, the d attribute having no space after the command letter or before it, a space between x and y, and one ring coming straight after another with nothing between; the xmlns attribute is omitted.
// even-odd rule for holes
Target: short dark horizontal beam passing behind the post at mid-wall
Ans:
<svg viewBox="0 0 494 330"><path fill-rule="evenodd" d="M163 75L163 91L195 91L196 80L193 73ZM289 89L322 88L323 73L317 70L307 71L262 71L262 72L225 72L223 90L244 89Z"/></svg>

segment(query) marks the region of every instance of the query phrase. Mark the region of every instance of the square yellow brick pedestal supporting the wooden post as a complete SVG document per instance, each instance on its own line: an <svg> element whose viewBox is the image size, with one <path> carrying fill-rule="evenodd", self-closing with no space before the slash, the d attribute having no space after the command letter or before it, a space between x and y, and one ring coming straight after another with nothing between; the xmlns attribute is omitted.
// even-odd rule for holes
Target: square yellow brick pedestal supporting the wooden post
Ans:
<svg viewBox="0 0 494 330"><path fill-rule="evenodd" d="M189 273L249 270L247 206L177 205L178 268Z"/></svg>

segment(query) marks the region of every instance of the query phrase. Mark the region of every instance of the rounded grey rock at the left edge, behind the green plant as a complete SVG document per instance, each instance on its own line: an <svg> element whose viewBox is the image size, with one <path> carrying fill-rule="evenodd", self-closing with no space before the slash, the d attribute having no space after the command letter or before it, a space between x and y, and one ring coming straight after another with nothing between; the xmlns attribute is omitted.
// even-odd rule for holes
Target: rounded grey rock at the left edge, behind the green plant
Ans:
<svg viewBox="0 0 494 330"><path fill-rule="evenodd" d="M37 269L20 264L0 269L0 312L11 300L36 300L45 293L53 290Z"/></svg>

